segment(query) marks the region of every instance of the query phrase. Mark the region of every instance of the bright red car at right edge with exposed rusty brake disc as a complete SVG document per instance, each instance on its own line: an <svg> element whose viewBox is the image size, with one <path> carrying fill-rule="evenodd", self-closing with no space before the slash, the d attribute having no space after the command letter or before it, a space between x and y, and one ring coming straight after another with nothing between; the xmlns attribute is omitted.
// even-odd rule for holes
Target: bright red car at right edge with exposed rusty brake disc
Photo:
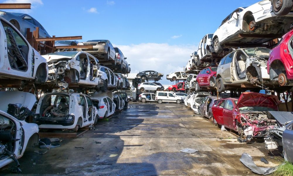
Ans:
<svg viewBox="0 0 293 176"><path fill-rule="evenodd" d="M267 70L270 81L280 86L293 85L293 30L283 35L270 51Z"/></svg>

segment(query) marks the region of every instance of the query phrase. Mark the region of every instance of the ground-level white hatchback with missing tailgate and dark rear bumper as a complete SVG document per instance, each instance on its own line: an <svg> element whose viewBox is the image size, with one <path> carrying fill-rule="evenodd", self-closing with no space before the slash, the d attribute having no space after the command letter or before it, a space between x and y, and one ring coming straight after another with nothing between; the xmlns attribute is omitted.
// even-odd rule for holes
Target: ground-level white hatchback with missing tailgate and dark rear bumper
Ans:
<svg viewBox="0 0 293 176"><path fill-rule="evenodd" d="M73 129L92 126L98 116L90 97L79 93L53 92L42 95L34 123L39 128Z"/></svg>

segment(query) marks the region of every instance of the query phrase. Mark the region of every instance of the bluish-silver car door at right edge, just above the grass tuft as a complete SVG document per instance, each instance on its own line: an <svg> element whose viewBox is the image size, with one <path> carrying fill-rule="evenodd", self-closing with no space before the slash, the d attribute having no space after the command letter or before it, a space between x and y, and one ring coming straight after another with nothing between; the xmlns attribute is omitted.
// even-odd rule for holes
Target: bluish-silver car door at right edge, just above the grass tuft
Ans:
<svg viewBox="0 0 293 176"><path fill-rule="evenodd" d="M286 130L283 132L283 150L285 160L291 161L293 160L293 122L289 123L286 126Z"/></svg>

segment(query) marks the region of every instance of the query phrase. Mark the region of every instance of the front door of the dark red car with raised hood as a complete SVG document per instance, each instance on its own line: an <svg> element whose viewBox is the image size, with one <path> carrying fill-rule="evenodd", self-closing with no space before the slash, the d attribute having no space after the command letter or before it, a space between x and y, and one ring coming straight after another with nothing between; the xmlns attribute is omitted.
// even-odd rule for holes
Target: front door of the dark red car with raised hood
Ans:
<svg viewBox="0 0 293 176"><path fill-rule="evenodd" d="M234 108L233 102L231 100L226 100L226 103L223 109L224 126L232 130L234 130L233 108Z"/></svg>

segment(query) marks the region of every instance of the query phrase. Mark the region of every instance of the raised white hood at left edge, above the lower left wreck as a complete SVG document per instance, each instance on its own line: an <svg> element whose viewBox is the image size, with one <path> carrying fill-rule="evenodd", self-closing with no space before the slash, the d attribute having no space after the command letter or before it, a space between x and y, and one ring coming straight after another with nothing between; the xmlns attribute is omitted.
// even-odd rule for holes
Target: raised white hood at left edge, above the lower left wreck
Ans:
<svg viewBox="0 0 293 176"><path fill-rule="evenodd" d="M0 101L0 110L7 112L8 104L20 104L29 110L33 109L33 105L37 101L34 94L21 91L1 91L0 97L5 101Z"/></svg>

